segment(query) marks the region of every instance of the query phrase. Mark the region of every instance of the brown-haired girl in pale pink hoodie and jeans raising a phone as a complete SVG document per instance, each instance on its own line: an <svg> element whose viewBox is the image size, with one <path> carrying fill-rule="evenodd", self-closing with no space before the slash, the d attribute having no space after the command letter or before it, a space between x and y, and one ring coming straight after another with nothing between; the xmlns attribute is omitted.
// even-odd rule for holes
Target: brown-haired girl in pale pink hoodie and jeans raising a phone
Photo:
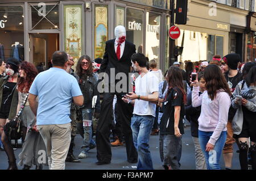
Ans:
<svg viewBox="0 0 256 181"><path fill-rule="evenodd" d="M192 106L201 106L199 142L208 170L220 170L220 157L226 141L226 124L230 107L230 89L221 69L208 65L204 71L205 91L199 96L199 82L194 81Z"/></svg>

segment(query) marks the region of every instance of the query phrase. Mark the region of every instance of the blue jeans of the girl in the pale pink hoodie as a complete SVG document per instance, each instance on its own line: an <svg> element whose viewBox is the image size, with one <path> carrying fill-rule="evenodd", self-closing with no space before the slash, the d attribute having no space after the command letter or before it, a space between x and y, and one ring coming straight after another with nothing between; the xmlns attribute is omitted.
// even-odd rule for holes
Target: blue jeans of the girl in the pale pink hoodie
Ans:
<svg viewBox="0 0 256 181"><path fill-rule="evenodd" d="M207 164L207 170L221 170L220 168L220 158L221 153L226 142L226 131L221 132L220 137L214 145L214 149L210 151L205 151L206 145L210 140L213 132L203 132L199 130L199 142L201 149L204 153L205 162Z"/></svg>

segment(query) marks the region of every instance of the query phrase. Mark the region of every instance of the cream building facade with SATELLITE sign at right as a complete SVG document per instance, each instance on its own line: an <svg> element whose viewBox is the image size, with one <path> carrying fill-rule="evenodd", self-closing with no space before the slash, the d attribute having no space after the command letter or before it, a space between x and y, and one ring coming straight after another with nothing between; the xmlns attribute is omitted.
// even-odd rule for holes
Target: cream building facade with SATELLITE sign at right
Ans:
<svg viewBox="0 0 256 181"><path fill-rule="evenodd" d="M184 47L178 61L210 61L214 54L228 53L240 54L242 61L255 60L250 44L255 40L254 7L250 0L189 1L187 24L179 26L184 37L176 41Z"/></svg>

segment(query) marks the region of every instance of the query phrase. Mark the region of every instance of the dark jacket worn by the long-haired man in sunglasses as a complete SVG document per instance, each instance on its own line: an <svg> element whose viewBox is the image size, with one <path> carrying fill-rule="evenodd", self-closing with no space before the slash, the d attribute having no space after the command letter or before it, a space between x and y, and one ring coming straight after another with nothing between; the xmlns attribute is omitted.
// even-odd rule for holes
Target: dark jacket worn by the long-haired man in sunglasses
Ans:
<svg viewBox="0 0 256 181"><path fill-rule="evenodd" d="M92 108L92 98L97 95L97 101L95 105L95 112L100 112L100 94L97 90L98 77L92 73L90 76L82 75L79 80L79 86L84 95L84 106L81 108Z"/></svg>

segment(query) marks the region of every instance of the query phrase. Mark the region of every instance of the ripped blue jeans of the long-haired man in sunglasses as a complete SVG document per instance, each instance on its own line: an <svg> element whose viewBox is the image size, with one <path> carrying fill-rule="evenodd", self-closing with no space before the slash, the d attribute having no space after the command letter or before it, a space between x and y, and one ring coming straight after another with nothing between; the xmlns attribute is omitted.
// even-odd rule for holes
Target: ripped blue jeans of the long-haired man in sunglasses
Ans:
<svg viewBox="0 0 256 181"><path fill-rule="evenodd" d="M92 120L92 109L82 109L82 120ZM90 149L90 145L96 145L92 139L92 125L90 127L84 127L84 141L82 144L82 153L87 154Z"/></svg>

